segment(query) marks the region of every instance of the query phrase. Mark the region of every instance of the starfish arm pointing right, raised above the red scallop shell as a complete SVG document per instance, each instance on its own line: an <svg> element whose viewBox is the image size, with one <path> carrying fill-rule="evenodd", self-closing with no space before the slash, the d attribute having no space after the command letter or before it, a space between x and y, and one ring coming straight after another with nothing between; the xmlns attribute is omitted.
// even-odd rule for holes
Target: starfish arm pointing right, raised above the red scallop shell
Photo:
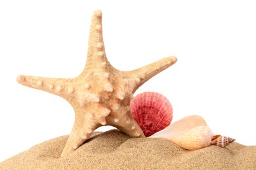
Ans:
<svg viewBox="0 0 256 170"><path fill-rule="evenodd" d="M144 82L157 75L161 71L167 69L176 63L176 61L177 58L175 57L167 57L144 67L140 67L139 69L126 71L125 75L131 82L132 92L134 93L142 84L144 84Z"/></svg>

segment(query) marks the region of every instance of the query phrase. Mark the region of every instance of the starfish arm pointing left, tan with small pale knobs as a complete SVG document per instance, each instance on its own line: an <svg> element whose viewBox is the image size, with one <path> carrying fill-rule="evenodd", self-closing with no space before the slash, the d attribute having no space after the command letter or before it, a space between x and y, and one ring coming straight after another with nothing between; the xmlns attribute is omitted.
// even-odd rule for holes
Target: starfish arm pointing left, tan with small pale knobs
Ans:
<svg viewBox="0 0 256 170"><path fill-rule="evenodd" d="M46 78L39 76L19 75L16 80L18 83L24 86L43 90L45 92L53 93L64 98L65 93L72 93L72 90L74 90L73 87L65 86L66 82L71 81L71 79L68 78Z"/></svg>

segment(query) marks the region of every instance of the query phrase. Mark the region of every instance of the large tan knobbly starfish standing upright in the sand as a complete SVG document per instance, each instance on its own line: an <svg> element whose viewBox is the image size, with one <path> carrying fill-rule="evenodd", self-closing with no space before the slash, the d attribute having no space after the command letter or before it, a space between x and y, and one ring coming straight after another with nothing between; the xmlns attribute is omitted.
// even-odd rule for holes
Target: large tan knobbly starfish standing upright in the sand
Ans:
<svg viewBox="0 0 256 170"><path fill-rule="evenodd" d="M102 12L91 21L87 61L75 78L45 78L19 75L17 81L30 88L63 97L72 105L75 122L61 156L77 149L100 126L114 126L130 137L145 137L129 110L133 93L144 82L177 61L160 59L133 71L115 69L106 58L102 38Z"/></svg>

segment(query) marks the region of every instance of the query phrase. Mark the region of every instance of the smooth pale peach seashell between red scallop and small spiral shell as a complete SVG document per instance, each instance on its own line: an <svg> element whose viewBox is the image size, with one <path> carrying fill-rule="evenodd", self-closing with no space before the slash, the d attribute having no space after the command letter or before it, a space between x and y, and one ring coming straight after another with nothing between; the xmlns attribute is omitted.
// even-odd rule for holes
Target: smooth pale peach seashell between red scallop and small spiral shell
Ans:
<svg viewBox="0 0 256 170"><path fill-rule="evenodd" d="M173 122L150 137L168 139L187 150L196 150L209 146L213 133L201 116L192 115Z"/></svg>

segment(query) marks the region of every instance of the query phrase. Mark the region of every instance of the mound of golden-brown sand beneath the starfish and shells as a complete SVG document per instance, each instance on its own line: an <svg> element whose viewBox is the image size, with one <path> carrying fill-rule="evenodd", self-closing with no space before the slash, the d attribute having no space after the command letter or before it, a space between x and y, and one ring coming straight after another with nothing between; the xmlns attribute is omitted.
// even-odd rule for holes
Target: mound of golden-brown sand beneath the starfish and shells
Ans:
<svg viewBox="0 0 256 170"><path fill-rule="evenodd" d="M185 150L165 139L131 139L118 130L93 133L60 158L68 139L57 137L0 163L0 169L256 169L256 146L236 142Z"/></svg>

